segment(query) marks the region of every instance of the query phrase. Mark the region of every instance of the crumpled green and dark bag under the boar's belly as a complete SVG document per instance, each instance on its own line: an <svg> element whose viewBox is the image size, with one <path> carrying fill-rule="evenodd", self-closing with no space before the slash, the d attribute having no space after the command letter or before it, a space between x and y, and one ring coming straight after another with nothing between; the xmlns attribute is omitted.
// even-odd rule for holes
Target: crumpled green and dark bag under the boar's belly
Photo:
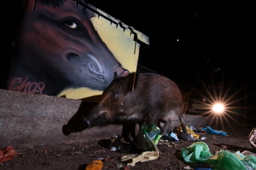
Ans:
<svg viewBox="0 0 256 170"><path fill-rule="evenodd" d="M160 129L156 125L144 124L140 127L133 146L140 151L159 151L157 143L160 138Z"/></svg>

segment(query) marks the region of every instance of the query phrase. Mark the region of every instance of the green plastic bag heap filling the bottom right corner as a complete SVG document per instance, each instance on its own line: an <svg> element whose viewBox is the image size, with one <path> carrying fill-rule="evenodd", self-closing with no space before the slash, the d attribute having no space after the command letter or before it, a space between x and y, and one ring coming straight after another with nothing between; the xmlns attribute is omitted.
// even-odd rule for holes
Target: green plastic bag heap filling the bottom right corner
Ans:
<svg viewBox="0 0 256 170"><path fill-rule="evenodd" d="M256 158L253 155L244 156L239 151L220 150L212 155L204 142L195 142L182 149L182 156L185 162L189 163L195 170L253 170L256 168Z"/></svg>

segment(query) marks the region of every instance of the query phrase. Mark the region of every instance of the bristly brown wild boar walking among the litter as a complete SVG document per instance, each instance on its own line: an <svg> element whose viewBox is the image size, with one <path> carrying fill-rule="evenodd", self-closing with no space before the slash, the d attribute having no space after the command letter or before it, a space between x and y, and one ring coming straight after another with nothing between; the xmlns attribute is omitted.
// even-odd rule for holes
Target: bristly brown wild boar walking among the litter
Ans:
<svg viewBox="0 0 256 170"><path fill-rule="evenodd" d="M187 133L183 110L182 94L172 80L154 73L131 73L115 78L104 90L100 103L82 120L87 128L123 124L122 136L129 141L129 133L135 138L137 123L152 123L160 128L163 122L161 134L165 135L174 116L180 118L182 130Z"/></svg>

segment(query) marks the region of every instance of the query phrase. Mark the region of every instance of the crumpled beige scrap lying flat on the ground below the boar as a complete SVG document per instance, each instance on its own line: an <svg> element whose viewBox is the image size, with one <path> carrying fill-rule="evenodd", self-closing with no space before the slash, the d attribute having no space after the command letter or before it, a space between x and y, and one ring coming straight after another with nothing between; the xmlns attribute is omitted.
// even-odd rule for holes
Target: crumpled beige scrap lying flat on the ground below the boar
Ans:
<svg viewBox="0 0 256 170"><path fill-rule="evenodd" d="M124 155L121 156L120 161L127 163L127 165L135 166L135 163L146 162L157 159L159 152L157 151L147 151L142 152L139 155Z"/></svg>

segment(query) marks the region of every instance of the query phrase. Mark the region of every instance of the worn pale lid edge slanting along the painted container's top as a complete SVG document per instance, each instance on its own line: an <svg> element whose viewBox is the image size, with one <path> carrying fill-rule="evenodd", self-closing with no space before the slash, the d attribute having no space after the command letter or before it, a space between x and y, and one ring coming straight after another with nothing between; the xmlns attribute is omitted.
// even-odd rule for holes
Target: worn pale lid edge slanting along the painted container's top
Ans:
<svg viewBox="0 0 256 170"><path fill-rule="evenodd" d="M106 14L106 12L103 12L99 8L94 7L93 5L86 2L85 0L80 0L79 4L85 8L92 10L96 14L99 14L101 17L104 17L112 22L115 22L116 24L119 24L120 27L123 27L125 29L130 29L131 33L136 34L135 37L137 37L138 41L144 42L145 44L149 45L149 37L146 36L145 34L143 34L142 32L137 31L137 30L133 29L133 27L130 27L130 26L126 25L125 23L121 22L120 20L115 19L114 17L110 16L109 14Z"/></svg>

